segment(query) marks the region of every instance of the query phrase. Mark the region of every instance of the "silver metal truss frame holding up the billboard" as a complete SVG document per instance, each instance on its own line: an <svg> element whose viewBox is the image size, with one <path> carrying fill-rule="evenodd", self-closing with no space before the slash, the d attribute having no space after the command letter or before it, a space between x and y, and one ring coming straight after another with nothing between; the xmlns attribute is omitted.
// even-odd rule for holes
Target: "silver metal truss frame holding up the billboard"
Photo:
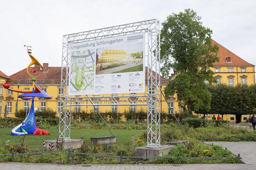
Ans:
<svg viewBox="0 0 256 170"><path fill-rule="evenodd" d="M70 66L70 44L90 40L145 32L145 64L148 93L144 95L119 96L68 96ZM84 31L63 36L61 60L60 102L63 108L59 117L59 138L70 139L71 107L81 105L147 105L147 145L160 147L160 23L158 20L145 20L108 28ZM146 98L146 100L145 100ZM86 101L90 101L87 104ZM146 102L145 102L146 101Z"/></svg>

